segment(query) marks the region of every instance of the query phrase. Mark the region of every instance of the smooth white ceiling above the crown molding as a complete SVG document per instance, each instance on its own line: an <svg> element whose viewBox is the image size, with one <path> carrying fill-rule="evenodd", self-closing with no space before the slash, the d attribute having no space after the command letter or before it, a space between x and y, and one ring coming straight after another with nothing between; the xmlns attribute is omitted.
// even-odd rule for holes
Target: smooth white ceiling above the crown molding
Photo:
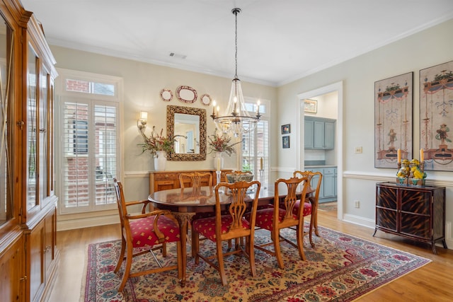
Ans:
<svg viewBox="0 0 453 302"><path fill-rule="evenodd" d="M21 1L50 45L231 79L239 7L239 79L271 86L453 18L452 0Z"/></svg>

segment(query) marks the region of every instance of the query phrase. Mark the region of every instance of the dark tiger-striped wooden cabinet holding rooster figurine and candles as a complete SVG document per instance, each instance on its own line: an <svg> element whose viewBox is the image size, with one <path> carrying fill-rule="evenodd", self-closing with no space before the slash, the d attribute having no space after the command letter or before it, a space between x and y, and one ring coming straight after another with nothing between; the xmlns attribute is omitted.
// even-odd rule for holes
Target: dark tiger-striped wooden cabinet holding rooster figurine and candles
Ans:
<svg viewBox="0 0 453 302"><path fill-rule="evenodd" d="M376 185L376 228L386 233L430 243L445 241L445 187L398 185L379 182Z"/></svg>

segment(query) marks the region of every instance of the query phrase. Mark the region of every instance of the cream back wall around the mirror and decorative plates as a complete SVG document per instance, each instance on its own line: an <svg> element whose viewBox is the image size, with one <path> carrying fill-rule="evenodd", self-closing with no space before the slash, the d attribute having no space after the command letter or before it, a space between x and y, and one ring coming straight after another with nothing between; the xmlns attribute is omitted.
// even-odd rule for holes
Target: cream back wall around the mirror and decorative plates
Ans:
<svg viewBox="0 0 453 302"><path fill-rule="evenodd" d="M137 144L142 142L137 129L139 111L148 112L148 127L146 133L151 133L152 126L156 131L164 129L166 133L166 106L180 105L207 110L207 134L214 133L214 122L209 115L212 106L202 105L198 99L193 104L180 102L176 98L178 86L195 88L198 96L209 94L217 101L221 110L226 103L231 90L231 79L219 76L210 76L191 71L168 68L154 64L136 62L129 59L108 57L91 52L81 52L64 47L51 46L52 53L57 61L57 68L86 71L96 74L122 77L124 81L124 103L122 120L122 144L124 147L124 175L120 178L125 181L126 199L142 199L148 196L149 180L147 173L153 170L154 165L149 154L140 154L141 148ZM232 69L232 71L234 71ZM160 98L160 91L168 88L173 92L173 100L165 102ZM275 87L242 82L243 94L251 98L270 100L275 103L277 90ZM223 107L223 108L222 108ZM206 161L167 161L166 170L190 170L213 168L213 154L207 154ZM276 161L276 156L273 161ZM226 158L225 168L236 168L236 156Z"/></svg>

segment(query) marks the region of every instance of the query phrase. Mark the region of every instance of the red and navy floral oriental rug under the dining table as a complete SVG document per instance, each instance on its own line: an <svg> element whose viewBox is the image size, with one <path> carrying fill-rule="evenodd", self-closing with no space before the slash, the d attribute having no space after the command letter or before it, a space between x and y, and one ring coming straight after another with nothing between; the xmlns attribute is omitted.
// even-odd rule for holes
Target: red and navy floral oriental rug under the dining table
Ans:
<svg viewBox="0 0 453 302"><path fill-rule="evenodd" d="M285 230L282 234L295 241L294 231ZM251 277L246 257L231 255L224 259L229 284L222 286L219 272L202 260L195 265L193 257L188 257L184 288L179 286L174 270L130 278L122 293L117 286L124 262L120 275L113 273L120 240L91 244L81 301L352 301L430 262L321 226L319 235L314 236L315 248L305 238L306 261L300 260L296 248L281 243L285 269L278 268L275 257L255 250L256 277ZM267 231L256 231L256 243L269 238ZM215 251L210 240L203 240L200 245L206 252ZM176 262L175 245L167 248L165 258L156 253L159 259ZM132 269L155 263L149 253L139 257Z"/></svg>

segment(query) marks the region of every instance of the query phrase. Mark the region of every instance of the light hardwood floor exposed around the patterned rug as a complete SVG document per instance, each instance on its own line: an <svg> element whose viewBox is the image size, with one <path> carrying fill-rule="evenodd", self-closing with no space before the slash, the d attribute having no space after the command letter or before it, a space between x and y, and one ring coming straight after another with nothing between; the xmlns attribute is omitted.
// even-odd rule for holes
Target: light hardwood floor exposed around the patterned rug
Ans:
<svg viewBox="0 0 453 302"><path fill-rule="evenodd" d="M400 236L378 231L376 237L372 237L374 229L339 221L336 219L336 211L319 211L318 221L321 226L432 260L428 265L372 291L357 301L453 301L453 250L438 247L437 255L434 255L429 245L415 243ZM88 244L119 239L120 236L119 225L58 232L59 276L52 289L50 302L84 301L81 297L81 280L85 279Z"/></svg>

